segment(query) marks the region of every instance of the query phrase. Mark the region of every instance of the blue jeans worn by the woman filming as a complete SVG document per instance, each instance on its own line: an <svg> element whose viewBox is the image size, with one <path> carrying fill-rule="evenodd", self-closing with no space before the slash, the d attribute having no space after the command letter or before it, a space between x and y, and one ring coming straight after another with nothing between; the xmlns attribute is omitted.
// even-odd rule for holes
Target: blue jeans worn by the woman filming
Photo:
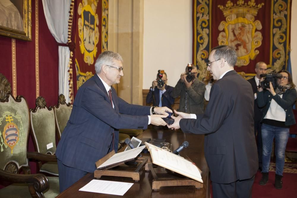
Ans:
<svg viewBox="0 0 297 198"><path fill-rule="evenodd" d="M275 138L275 156L277 175L282 175L285 165L285 150L289 137L289 129L262 124L262 172L269 171L270 156L272 152L272 142Z"/></svg>

